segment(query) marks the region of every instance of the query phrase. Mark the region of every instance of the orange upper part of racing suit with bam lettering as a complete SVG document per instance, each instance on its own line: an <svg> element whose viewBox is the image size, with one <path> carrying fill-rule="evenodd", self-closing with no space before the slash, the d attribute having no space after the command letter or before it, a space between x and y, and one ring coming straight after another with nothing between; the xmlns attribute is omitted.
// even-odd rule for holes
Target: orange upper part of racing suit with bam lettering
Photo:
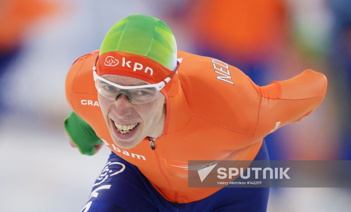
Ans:
<svg viewBox="0 0 351 212"><path fill-rule="evenodd" d="M153 141L154 148L145 138L122 149L113 143L99 107L92 71L97 54L79 58L69 70L68 104L114 153L137 166L165 199L178 203L197 201L220 189L189 188L188 160L253 160L267 134L310 114L327 88L325 75L310 69L260 87L223 61L178 51L178 74L163 92L163 134Z"/></svg>

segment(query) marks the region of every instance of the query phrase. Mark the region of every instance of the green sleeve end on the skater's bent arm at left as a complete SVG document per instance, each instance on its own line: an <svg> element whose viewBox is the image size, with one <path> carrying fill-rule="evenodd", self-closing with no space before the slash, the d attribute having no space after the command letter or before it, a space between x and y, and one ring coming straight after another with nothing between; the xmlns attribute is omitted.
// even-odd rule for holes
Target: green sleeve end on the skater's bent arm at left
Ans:
<svg viewBox="0 0 351 212"><path fill-rule="evenodd" d="M102 143L93 128L73 111L65 120L65 129L82 154L95 154L95 145Z"/></svg>

